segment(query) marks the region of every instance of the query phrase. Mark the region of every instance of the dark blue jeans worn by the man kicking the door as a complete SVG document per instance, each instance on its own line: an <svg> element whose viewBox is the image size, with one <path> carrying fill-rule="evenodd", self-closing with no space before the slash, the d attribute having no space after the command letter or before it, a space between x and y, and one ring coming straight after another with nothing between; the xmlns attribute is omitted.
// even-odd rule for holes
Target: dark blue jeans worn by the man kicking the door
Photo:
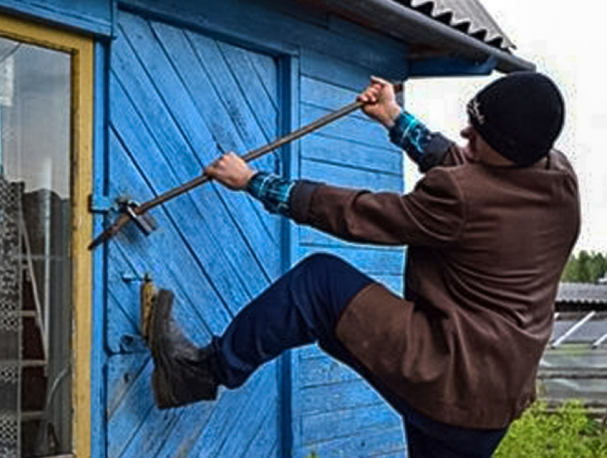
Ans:
<svg viewBox="0 0 607 458"><path fill-rule="evenodd" d="M414 411L358 364L335 337L350 300L373 280L338 257L313 254L236 315L213 341L221 384L239 387L264 362L285 350L318 342L361 374L403 417L411 458L488 458L506 429L478 430L442 424Z"/></svg>

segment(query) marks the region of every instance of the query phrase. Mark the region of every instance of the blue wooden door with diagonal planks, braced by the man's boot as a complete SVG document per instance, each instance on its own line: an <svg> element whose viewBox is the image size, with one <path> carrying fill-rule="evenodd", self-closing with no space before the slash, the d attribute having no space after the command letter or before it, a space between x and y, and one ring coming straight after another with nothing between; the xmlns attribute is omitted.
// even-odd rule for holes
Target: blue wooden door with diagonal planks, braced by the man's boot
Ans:
<svg viewBox="0 0 607 458"><path fill-rule="evenodd" d="M146 201L197 176L225 151L274 139L276 59L119 11L109 76L109 196ZM256 163L274 170L276 156ZM151 212L108 247L106 452L118 457L279 455L279 371L267 364L216 402L159 411L153 363L139 339L139 282L176 294L176 319L206 344L278 277L280 222L244 193L207 184Z"/></svg>

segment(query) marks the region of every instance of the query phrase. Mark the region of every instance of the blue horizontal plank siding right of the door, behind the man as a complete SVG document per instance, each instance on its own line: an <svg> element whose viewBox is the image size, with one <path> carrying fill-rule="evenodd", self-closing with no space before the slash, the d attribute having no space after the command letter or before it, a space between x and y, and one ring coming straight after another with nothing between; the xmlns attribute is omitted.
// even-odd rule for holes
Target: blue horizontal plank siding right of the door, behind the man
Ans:
<svg viewBox="0 0 607 458"><path fill-rule="evenodd" d="M301 56L300 116L306 123L351 102L368 84L368 70L313 51ZM327 126L300 144L301 177L338 186L401 191L401 151L385 129L361 113ZM396 292L402 290L403 249L349 244L299 227L297 253L330 252ZM294 456L402 457L401 419L363 379L316 346L299 349L293 364Z"/></svg>

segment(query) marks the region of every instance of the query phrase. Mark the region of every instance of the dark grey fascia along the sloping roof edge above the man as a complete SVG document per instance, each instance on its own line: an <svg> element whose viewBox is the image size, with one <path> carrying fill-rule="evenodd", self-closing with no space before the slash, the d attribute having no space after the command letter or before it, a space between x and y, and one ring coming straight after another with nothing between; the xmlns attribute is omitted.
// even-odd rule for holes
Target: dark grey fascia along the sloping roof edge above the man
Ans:
<svg viewBox="0 0 607 458"><path fill-rule="evenodd" d="M397 39L444 49L474 62L484 62L494 57L496 69L503 73L536 69L532 62L486 44L393 0L324 0L323 3L337 14L356 18Z"/></svg>

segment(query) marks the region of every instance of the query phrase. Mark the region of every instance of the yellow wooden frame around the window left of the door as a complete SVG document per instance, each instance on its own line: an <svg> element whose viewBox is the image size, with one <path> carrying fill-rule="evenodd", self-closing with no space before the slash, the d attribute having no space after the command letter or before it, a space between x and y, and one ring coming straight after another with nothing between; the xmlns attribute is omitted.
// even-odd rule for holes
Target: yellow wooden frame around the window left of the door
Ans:
<svg viewBox="0 0 607 458"><path fill-rule="evenodd" d="M71 56L72 447L77 457L90 457L92 268L86 247L92 235L87 202L93 170L94 41L4 14L0 14L0 36Z"/></svg>

